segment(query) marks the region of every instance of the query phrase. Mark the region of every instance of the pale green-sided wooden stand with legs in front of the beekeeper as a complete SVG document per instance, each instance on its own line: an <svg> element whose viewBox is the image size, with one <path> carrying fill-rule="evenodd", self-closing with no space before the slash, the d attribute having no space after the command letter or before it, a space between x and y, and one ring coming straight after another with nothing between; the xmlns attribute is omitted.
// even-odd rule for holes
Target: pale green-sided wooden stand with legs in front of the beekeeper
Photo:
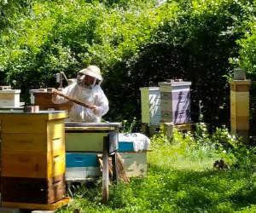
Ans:
<svg viewBox="0 0 256 213"><path fill-rule="evenodd" d="M118 181L118 129L121 123L65 123L68 153L102 153L102 203L108 203L109 159L113 162L113 181Z"/></svg>

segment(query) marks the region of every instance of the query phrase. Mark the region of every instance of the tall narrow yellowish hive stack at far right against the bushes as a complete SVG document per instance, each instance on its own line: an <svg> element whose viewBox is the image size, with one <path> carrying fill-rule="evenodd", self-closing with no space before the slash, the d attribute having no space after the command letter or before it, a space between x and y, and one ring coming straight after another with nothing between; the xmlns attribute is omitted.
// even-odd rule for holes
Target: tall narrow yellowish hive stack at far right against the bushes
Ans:
<svg viewBox="0 0 256 213"><path fill-rule="evenodd" d="M248 141L250 80L230 80L231 133Z"/></svg>

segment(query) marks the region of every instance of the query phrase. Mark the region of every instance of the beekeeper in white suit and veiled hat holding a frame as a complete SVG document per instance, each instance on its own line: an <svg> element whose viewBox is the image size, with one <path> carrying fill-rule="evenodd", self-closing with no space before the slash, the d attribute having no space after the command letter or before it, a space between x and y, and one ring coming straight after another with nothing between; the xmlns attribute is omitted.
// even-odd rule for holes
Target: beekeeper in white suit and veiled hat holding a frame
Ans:
<svg viewBox="0 0 256 213"><path fill-rule="evenodd" d="M77 82L72 83L61 91L62 94L90 106L88 108L73 103L73 107L69 112L69 118L72 121L100 122L102 116L108 112L108 98L101 88L101 83L101 70L99 67L92 65L79 71ZM68 100L60 95L53 95L52 101L55 104L61 104Z"/></svg>

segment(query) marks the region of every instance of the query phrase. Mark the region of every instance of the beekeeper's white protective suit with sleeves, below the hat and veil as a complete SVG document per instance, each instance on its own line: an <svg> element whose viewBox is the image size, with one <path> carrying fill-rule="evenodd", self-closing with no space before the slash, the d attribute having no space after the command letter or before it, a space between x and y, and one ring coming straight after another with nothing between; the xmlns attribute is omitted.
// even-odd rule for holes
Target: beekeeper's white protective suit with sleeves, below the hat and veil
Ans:
<svg viewBox="0 0 256 213"><path fill-rule="evenodd" d="M73 103L69 112L69 118L72 121L78 122L100 122L101 117L105 115L108 110L108 99L104 94L100 85L96 84L93 89L84 89L77 83L73 83L62 90L64 95L73 97L73 99L87 103L88 105L95 105L96 112L91 109L83 107L79 104ZM55 104L67 102L67 99L60 95L55 95L52 98Z"/></svg>

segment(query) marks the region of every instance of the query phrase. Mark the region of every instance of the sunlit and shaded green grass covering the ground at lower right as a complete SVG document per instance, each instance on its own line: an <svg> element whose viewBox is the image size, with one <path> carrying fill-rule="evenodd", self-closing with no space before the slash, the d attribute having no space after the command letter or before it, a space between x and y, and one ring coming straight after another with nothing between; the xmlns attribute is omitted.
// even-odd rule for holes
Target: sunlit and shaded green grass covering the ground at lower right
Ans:
<svg viewBox="0 0 256 213"><path fill-rule="evenodd" d="M81 187L73 203L57 212L256 212L253 155L243 149L240 155L224 152L209 138L176 135L170 143L162 135L155 136L147 177L111 185L107 205L101 204L99 180L96 187ZM213 168L220 158L230 162L230 169Z"/></svg>

